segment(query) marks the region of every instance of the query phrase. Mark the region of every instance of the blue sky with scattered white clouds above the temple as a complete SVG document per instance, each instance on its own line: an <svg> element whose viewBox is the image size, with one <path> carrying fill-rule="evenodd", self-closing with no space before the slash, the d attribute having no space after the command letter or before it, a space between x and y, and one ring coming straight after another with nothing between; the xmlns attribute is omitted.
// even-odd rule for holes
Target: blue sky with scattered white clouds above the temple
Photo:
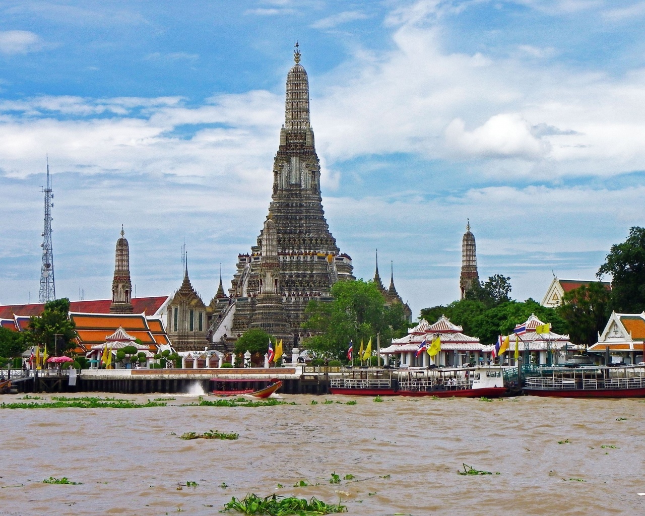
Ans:
<svg viewBox="0 0 645 516"><path fill-rule="evenodd" d="M208 303L262 228L299 42L323 206L355 275L415 316L482 279L541 301L645 215L643 0L0 4L0 304L37 300L45 159L57 297Z"/></svg>

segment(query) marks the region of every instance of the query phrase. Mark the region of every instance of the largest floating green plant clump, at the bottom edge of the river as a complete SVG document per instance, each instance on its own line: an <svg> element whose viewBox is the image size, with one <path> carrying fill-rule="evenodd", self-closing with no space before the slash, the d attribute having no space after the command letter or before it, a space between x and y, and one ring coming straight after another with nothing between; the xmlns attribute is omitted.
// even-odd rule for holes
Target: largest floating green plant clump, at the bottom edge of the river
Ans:
<svg viewBox="0 0 645 516"><path fill-rule="evenodd" d="M276 495L261 498L255 494L248 494L241 500L233 497L224 504L223 510L237 511L243 514L266 514L269 516L315 516L331 513L346 512L347 507L340 503L327 504L312 497L309 501L297 497L277 497Z"/></svg>

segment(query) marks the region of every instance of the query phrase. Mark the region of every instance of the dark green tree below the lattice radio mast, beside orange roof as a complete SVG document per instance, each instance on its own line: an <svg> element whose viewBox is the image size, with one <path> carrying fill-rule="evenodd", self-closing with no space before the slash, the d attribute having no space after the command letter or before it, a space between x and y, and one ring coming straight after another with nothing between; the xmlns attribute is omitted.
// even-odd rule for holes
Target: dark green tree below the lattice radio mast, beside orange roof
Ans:
<svg viewBox="0 0 645 516"><path fill-rule="evenodd" d="M43 313L29 320L25 331L28 345L40 344L47 347L47 353L59 355L73 349L76 332L75 324L68 317L70 300L56 299L45 304ZM58 339L55 341L55 339Z"/></svg>

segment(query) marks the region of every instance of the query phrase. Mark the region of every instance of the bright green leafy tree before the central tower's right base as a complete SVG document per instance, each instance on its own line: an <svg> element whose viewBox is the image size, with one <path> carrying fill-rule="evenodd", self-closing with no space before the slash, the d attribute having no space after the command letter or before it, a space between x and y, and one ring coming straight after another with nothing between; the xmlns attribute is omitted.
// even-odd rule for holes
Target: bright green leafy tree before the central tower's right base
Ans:
<svg viewBox="0 0 645 516"><path fill-rule="evenodd" d="M404 335L408 323L403 307L385 306L385 298L372 281L339 281L332 287L333 301L310 301L303 328L315 335L304 341L304 347L330 359L346 359L350 340L358 349L361 339L367 344L376 335L388 346L393 337Z"/></svg>

